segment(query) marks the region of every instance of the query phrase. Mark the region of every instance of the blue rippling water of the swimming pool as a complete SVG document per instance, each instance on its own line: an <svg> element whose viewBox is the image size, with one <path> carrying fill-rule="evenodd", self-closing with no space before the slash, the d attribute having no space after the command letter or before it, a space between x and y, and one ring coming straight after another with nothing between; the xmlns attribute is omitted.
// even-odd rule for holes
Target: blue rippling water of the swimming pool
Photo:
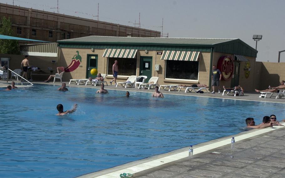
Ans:
<svg viewBox="0 0 285 178"><path fill-rule="evenodd" d="M1 177L75 177L237 134L284 104L34 85L1 92ZM201 94L202 95L202 94ZM56 116L78 104L75 113Z"/></svg>

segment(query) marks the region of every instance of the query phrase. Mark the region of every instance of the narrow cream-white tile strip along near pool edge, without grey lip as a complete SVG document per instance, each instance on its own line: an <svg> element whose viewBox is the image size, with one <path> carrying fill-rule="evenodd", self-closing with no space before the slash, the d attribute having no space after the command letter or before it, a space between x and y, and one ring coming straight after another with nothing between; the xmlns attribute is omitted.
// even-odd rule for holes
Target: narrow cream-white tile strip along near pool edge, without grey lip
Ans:
<svg viewBox="0 0 285 178"><path fill-rule="evenodd" d="M267 132L270 132L272 130L276 130L278 128L284 128L284 127L282 127L282 126L274 126L273 128L258 129L258 130L253 131L253 132L249 132L249 133L246 133L246 134L242 134L242 135L236 136L235 140L236 140L236 142L238 142L238 141L241 141L241 140L244 140L244 139L248 139L250 137L254 137L254 136L257 136L257 135L260 135L260 134L265 134ZM199 153L203 153L205 151L209 151L211 149L215 149L215 148L218 148L220 146L224 146L224 145L227 145L227 144L230 144L230 143L231 143L231 137L229 139L224 139L224 140L212 143L212 144L208 144L208 145L205 145L205 146L194 148L193 155L199 154ZM142 164L131 166L131 167L128 167L128 168L125 168L125 169L122 169L122 170L118 170L118 171L115 171L115 172L107 173L105 175L92 176L92 174L94 174L94 173L90 173L90 174L79 176L78 178L80 178L80 177L82 177L82 178L91 178L91 177L92 178L114 178L115 177L116 178L116 177L120 177L120 174L122 174L124 172L125 173L135 174L137 172L140 172L140 171L143 171L143 170L148 170L148 169L154 168L154 167L159 166L159 165L164 165L164 164L170 163L172 161L176 161L176 160L180 160L180 159L183 159L183 158L187 158L188 155L189 155L189 151L187 150L187 151L183 151L183 152L180 152L180 153L177 153L177 154L172 154L172 155L169 155L169 156L165 156L163 158L159 158L159 159L156 159L156 160L152 160L152 161L148 161L148 162L145 162L145 163L142 163Z"/></svg>

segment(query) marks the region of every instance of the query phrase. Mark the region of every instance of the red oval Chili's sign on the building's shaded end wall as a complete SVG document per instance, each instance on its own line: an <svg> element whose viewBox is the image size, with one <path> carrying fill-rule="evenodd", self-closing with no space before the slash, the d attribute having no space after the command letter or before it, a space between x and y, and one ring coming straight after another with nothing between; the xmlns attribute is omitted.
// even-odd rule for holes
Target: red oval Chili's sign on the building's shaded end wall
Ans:
<svg viewBox="0 0 285 178"><path fill-rule="evenodd" d="M234 63L231 56L221 56L218 60L217 68L222 73L222 80L231 80L234 71Z"/></svg>

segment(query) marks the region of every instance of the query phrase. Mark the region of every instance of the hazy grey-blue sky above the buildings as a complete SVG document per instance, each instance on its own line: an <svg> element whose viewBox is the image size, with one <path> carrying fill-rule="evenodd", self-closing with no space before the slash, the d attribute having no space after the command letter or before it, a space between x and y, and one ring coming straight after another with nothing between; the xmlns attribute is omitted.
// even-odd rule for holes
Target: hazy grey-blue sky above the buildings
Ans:
<svg viewBox="0 0 285 178"><path fill-rule="evenodd" d="M239 38L255 48L257 61L278 61L285 50L284 0L0 0L26 8L162 31L172 38ZM136 25L137 26L137 25ZM280 55L285 62L285 52Z"/></svg>

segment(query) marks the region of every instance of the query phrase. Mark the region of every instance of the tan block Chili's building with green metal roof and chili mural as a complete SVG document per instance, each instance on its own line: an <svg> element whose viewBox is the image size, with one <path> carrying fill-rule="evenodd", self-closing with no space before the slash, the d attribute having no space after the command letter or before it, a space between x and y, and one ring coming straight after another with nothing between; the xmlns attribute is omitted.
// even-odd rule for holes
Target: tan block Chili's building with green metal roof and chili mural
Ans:
<svg viewBox="0 0 285 178"><path fill-rule="evenodd" d="M253 89L250 73L257 51L240 39L87 36L57 42L68 79L94 78L90 71L96 68L111 81L117 60L117 81L135 75L147 76L146 82L158 76L159 85L211 85L212 65L217 65L223 76L221 86Z"/></svg>

